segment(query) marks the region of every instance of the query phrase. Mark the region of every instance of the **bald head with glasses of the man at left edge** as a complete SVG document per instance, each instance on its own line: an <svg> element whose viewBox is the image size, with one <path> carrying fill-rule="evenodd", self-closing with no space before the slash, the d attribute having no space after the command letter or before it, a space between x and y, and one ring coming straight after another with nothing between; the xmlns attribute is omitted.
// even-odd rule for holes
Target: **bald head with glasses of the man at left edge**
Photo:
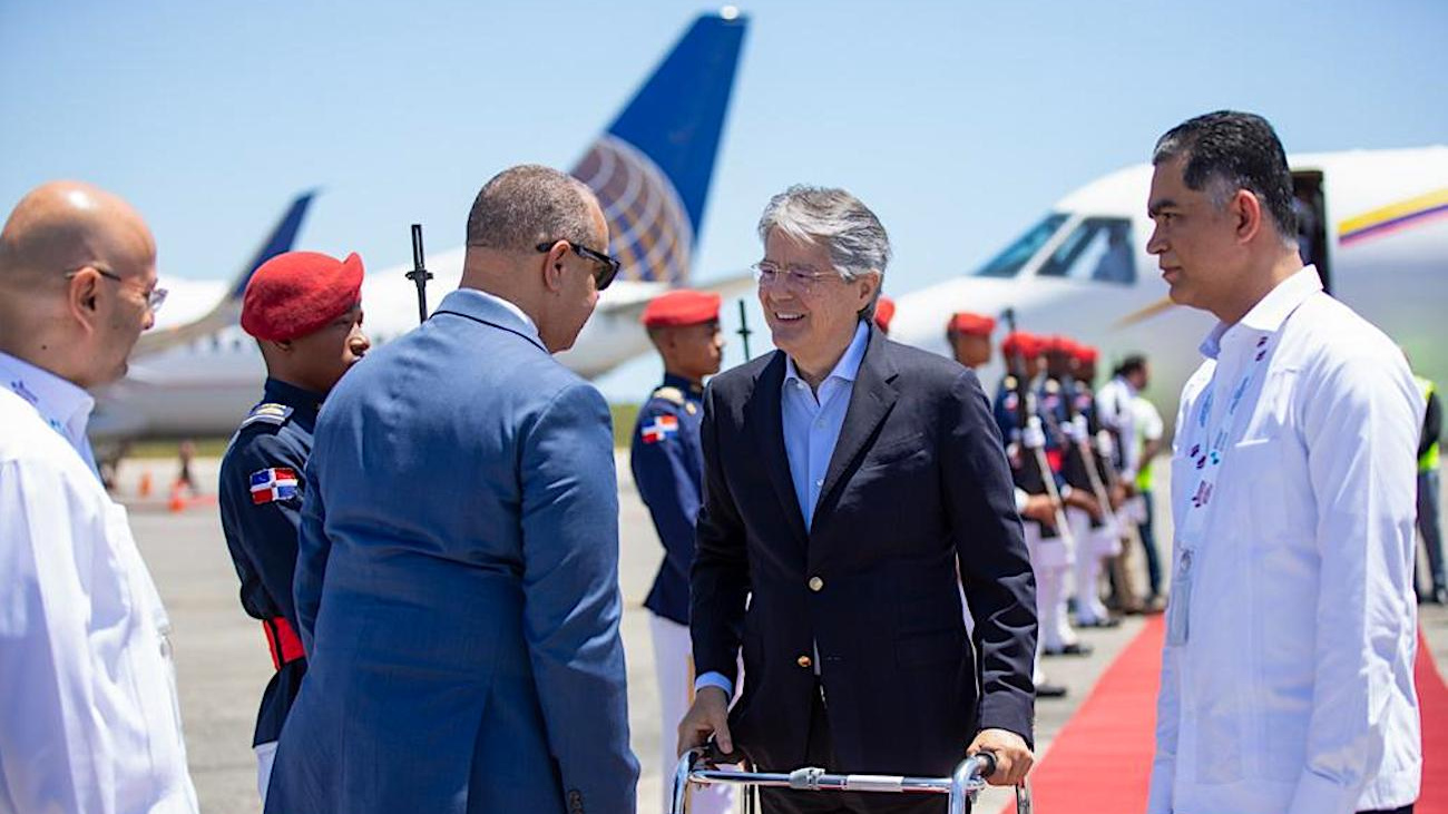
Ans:
<svg viewBox="0 0 1448 814"><path fill-rule="evenodd" d="M0 230L0 351L83 387L122 375L152 323L155 262L125 200L81 181L36 187Z"/></svg>

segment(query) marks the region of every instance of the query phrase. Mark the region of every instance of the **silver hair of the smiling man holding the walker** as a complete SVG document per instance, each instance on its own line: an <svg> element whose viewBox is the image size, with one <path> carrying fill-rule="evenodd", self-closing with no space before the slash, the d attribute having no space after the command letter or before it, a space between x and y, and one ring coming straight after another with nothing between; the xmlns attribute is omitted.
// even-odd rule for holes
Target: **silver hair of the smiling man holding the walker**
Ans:
<svg viewBox="0 0 1448 814"><path fill-rule="evenodd" d="M875 298L860 311L860 319L875 317L875 304L885 288L885 267L891 262L891 238L879 217L860 198L838 188L795 184L769 198L759 216L759 240L782 233L804 243L822 243L841 280L879 274Z"/></svg>

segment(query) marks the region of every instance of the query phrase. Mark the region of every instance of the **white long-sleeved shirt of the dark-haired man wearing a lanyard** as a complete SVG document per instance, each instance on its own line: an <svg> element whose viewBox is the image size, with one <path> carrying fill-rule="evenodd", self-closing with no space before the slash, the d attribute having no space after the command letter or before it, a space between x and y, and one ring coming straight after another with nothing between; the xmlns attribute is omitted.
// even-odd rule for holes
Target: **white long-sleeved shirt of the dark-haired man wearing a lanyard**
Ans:
<svg viewBox="0 0 1448 814"><path fill-rule="evenodd" d="M1312 267L1187 381L1151 814L1350 814L1416 800L1415 479L1402 352Z"/></svg>

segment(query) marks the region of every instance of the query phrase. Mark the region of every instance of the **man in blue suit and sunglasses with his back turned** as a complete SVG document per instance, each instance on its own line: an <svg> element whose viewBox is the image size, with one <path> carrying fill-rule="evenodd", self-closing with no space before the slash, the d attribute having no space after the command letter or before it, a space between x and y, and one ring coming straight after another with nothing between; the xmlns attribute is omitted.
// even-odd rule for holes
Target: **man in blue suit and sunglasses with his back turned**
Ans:
<svg viewBox="0 0 1448 814"><path fill-rule="evenodd" d="M633 811L608 406L553 361L618 271L586 187L478 193L462 282L327 398L266 811Z"/></svg>

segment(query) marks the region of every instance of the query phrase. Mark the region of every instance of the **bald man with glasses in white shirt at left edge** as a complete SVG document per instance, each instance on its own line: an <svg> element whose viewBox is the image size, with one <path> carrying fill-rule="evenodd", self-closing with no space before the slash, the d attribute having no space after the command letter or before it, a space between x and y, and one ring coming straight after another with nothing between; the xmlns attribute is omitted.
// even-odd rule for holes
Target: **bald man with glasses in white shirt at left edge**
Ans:
<svg viewBox="0 0 1448 814"><path fill-rule="evenodd" d="M155 322L156 248L88 184L0 232L0 811L193 814L171 623L101 487L87 388Z"/></svg>

